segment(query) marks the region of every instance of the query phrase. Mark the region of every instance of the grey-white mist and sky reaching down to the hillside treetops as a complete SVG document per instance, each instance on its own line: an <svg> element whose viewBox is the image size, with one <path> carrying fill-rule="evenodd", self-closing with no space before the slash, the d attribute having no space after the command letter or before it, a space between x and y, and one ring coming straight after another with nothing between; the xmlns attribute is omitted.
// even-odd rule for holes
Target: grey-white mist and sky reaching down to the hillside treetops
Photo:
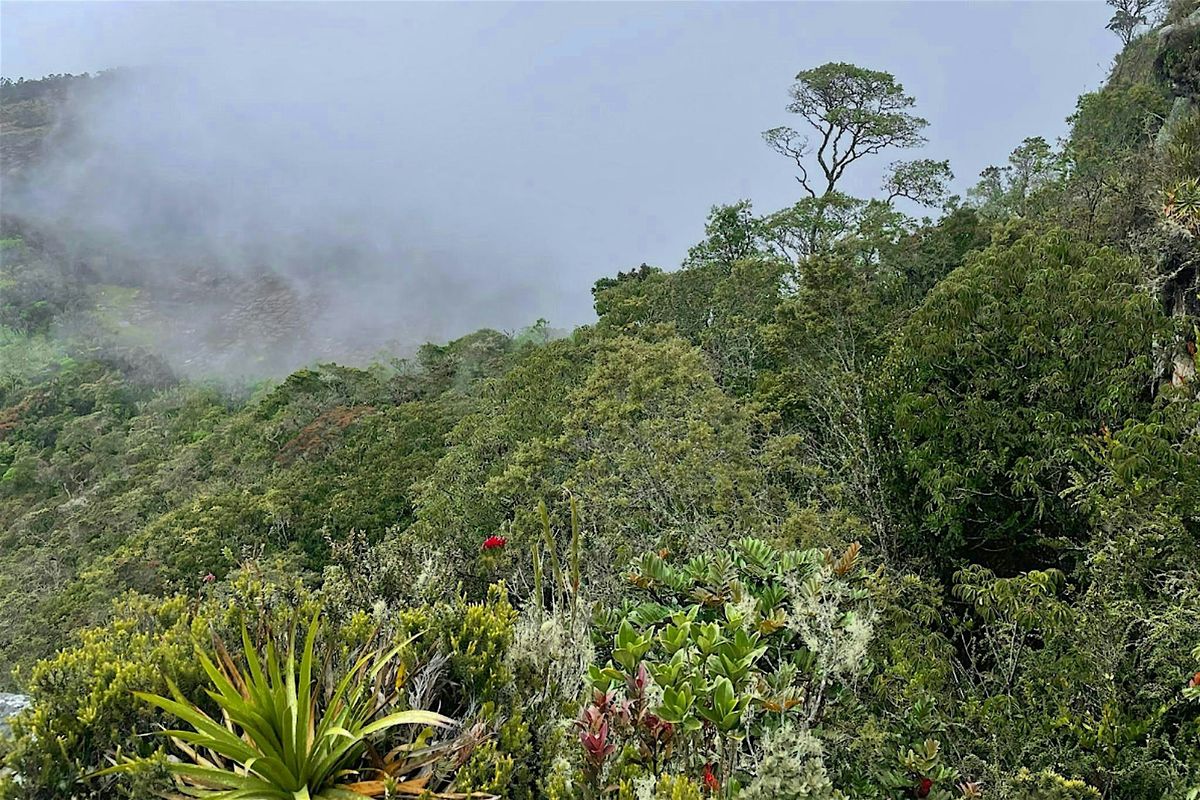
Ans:
<svg viewBox="0 0 1200 800"><path fill-rule="evenodd" d="M864 8L5 4L6 76L124 70L77 92L4 211L140 287L133 321L181 369L278 373L586 323L593 281L677 265L713 204L794 201L758 132L800 68L895 72L965 186L1061 133L1115 50L1099 2Z"/></svg>

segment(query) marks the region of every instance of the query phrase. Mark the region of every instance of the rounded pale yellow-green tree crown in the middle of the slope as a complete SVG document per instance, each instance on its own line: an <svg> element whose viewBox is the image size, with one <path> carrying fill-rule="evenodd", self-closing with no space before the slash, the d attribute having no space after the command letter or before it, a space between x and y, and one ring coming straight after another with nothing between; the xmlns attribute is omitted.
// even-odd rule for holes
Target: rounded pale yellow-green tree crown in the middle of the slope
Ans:
<svg viewBox="0 0 1200 800"><path fill-rule="evenodd" d="M698 552L737 529L755 481L749 426L695 349L616 339L570 404L563 434L518 455L499 485L510 497L547 479L571 491L600 534L584 563L594 587L610 559L649 541Z"/></svg>

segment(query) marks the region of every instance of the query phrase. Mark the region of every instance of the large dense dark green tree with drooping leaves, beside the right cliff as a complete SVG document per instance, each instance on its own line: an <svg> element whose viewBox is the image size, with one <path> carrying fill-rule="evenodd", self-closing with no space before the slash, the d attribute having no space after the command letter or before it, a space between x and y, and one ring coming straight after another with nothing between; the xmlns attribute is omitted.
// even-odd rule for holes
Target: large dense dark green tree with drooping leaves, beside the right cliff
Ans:
<svg viewBox="0 0 1200 800"><path fill-rule="evenodd" d="M930 294L883 392L901 493L943 563L1046 559L1081 540L1061 493L1086 438L1145 413L1163 330L1133 260L1063 233L994 245Z"/></svg>

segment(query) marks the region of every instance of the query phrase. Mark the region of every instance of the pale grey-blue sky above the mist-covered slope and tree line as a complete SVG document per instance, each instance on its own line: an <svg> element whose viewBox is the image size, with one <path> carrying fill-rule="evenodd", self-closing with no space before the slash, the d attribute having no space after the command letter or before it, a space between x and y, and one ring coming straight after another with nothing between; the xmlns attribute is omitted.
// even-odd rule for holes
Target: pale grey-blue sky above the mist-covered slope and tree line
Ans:
<svg viewBox="0 0 1200 800"><path fill-rule="evenodd" d="M6 0L0 72L154 67L167 78L95 124L97 151L128 162L104 167L122 197L97 213L137 235L148 206L194 192L184 213L210 213L196 230L236 242L232 259L256 237L277 253L353 237L367 266L348 282L407 277L349 302L398 303L442 336L586 323L595 279L678 266L714 204L799 199L761 132L799 127L788 85L827 61L894 73L930 122L905 155L948 158L962 192L1025 137L1066 132L1118 49L1109 11ZM856 164L845 188L876 192L890 160Z"/></svg>

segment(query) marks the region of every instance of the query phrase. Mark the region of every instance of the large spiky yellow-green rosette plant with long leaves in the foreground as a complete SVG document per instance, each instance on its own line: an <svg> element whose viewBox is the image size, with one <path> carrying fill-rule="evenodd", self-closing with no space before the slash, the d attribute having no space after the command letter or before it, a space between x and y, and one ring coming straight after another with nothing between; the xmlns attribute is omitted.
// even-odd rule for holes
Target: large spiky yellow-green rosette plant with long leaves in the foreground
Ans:
<svg viewBox="0 0 1200 800"><path fill-rule="evenodd" d="M205 692L221 709L221 720L190 703L174 684L169 684L172 698L134 693L192 728L164 732L184 756L168 764L182 793L176 796L362 800L384 794L418 796L433 788L428 786L428 765L457 742L400 747L376 768L361 769L368 740L376 734L400 726L455 724L433 711L383 714L395 699L395 691L385 690L385 674L403 644L388 652L367 652L326 693L314 678L319 630L320 620L314 616L298 660L294 628L282 656L269 639L265 654L259 657L242 626L245 669L220 642L216 661L197 651L212 685ZM97 775L134 766L136 763L119 764ZM467 796L433 792L426 796L431 795Z"/></svg>

